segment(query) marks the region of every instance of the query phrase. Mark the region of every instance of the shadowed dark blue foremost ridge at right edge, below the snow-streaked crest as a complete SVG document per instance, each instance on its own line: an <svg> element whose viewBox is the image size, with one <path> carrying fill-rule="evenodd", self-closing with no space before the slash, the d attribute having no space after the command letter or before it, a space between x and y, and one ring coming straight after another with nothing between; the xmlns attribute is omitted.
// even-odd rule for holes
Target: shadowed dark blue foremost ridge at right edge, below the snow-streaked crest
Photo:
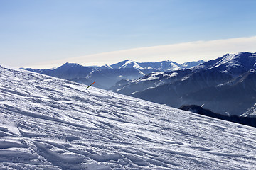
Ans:
<svg viewBox="0 0 256 170"><path fill-rule="evenodd" d="M256 103L255 69L219 86L211 86L183 96L186 103L204 104L212 111L241 115Z"/></svg>

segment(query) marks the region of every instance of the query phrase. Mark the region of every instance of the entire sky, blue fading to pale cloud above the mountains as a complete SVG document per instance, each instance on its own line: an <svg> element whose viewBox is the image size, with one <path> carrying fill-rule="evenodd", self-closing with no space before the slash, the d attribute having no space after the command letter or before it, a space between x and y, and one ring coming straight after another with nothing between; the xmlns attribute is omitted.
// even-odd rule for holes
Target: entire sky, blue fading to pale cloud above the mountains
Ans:
<svg viewBox="0 0 256 170"><path fill-rule="evenodd" d="M256 52L255 7L255 0L0 0L0 64L182 64Z"/></svg>

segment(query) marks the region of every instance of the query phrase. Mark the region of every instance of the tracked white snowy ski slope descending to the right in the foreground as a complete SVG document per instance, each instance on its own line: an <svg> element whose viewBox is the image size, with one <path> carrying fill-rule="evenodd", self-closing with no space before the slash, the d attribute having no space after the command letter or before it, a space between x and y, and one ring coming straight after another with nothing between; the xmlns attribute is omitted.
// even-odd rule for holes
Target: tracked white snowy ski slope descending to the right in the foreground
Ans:
<svg viewBox="0 0 256 170"><path fill-rule="evenodd" d="M256 129L0 67L0 169L255 169Z"/></svg>

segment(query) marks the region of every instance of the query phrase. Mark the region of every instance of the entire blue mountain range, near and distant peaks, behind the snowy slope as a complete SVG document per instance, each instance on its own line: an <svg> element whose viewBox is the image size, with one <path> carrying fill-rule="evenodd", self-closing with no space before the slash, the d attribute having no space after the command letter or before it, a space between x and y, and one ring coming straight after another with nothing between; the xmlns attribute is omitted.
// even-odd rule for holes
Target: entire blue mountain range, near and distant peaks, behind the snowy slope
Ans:
<svg viewBox="0 0 256 170"><path fill-rule="evenodd" d="M102 67L66 63L56 69L28 69L175 108L198 105L223 115L255 116L255 53L226 54L215 60L134 62Z"/></svg>

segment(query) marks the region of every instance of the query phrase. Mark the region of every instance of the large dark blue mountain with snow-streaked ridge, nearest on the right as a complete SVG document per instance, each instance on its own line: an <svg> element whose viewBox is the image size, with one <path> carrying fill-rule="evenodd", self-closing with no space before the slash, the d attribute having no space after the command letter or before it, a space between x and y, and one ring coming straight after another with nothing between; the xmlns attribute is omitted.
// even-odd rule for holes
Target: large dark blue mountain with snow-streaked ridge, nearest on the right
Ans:
<svg viewBox="0 0 256 170"><path fill-rule="evenodd" d="M256 103L256 53L227 54L189 69L153 72L117 82L111 89L176 108L193 104L242 115Z"/></svg>

